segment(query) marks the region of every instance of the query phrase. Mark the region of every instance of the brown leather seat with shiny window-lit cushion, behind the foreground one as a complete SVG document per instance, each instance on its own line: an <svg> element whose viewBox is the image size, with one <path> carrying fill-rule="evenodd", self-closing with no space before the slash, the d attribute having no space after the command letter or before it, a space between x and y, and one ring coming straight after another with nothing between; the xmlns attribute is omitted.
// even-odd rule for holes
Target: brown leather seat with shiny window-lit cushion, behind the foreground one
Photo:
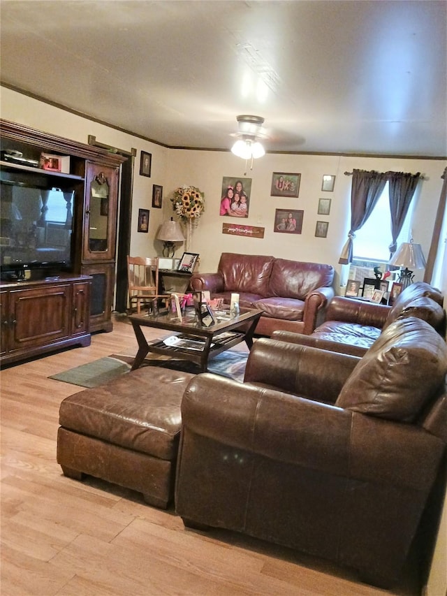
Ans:
<svg viewBox="0 0 447 596"><path fill-rule="evenodd" d="M310 335L277 331L272 337L342 354L363 356L383 329L398 318L418 317L446 337L444 297L438 289L416 282L397 297L393 307L336 296L325 310L325 321Z"/></svg>

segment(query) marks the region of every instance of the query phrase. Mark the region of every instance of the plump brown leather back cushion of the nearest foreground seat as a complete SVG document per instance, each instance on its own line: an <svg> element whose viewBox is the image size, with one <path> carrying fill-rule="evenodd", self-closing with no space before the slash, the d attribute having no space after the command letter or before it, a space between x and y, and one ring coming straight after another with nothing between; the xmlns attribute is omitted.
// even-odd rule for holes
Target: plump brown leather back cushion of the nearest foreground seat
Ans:
<svg viewBox="0 0 447 596"><path fill-rule="evenodd" d="M444 382L447 345L425 321L397 319L362 357L335 405L411 422Z"/></svg>

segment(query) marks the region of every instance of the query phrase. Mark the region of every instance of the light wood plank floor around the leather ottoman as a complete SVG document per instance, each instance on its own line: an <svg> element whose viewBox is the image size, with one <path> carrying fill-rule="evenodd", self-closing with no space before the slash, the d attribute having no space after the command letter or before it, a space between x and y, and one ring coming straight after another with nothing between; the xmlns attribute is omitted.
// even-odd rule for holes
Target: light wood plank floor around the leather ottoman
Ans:
<svg viewBox="0 0 447 596"><path fill-rule="evenodd" d="M2 596L416 595L411 574L393 592L378 590L286 548L186 530L173 508L149 507L130 490L65 478L56 463L59 404L82 388L47 377L136 350L121 319L90 347L1 371Z"/></svg>

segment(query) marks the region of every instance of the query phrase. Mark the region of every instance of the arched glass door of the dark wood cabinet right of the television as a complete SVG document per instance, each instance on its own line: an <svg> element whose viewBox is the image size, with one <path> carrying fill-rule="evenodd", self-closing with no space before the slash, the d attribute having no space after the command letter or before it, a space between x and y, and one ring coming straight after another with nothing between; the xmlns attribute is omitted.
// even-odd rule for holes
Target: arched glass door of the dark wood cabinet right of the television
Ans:
<svg viewBox="0 0 447 596"><path fill-rule="evenodd" d="M117 170L87 164L85 187L84 261L115 257Z"/></svg>

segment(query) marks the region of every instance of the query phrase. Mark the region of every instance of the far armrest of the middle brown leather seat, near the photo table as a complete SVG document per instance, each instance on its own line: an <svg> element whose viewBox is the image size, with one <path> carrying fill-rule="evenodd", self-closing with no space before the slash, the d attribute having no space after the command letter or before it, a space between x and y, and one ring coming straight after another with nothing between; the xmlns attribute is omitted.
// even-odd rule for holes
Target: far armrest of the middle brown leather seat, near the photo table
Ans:
<svg viewBox="0 0 447 596"><path fill-rule="evenodd" d="M335 296L325 312L326 321L344 321L371 327L383 328L391 307L373 304L364 300Z"/></svg>

